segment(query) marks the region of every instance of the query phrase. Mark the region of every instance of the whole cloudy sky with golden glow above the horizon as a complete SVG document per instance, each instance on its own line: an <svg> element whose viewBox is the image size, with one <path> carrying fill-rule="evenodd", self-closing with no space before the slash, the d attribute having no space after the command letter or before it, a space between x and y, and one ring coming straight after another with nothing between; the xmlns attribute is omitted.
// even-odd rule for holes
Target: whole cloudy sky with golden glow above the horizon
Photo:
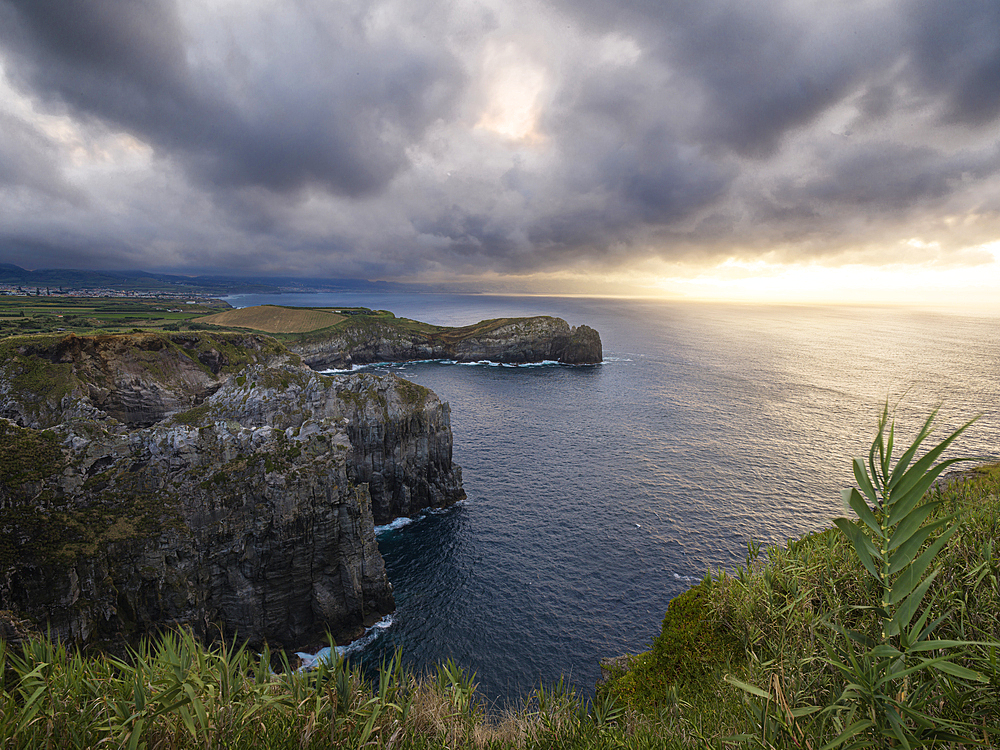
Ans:
<svg viewBox="0 0 1000 750"><path fill-rule="evenodd" d="M1000 304L1000 3L0 0L0 261Z"/></svg>

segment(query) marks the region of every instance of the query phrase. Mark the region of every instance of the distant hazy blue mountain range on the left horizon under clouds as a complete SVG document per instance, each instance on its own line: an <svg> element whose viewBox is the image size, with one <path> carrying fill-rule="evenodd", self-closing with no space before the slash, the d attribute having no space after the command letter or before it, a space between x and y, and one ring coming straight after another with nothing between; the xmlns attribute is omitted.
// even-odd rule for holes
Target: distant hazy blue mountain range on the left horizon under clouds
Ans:
<svg viewBox="0 0 1000 750"><path fill-rule="evenodd" d="M269 294L278 292L433 292L428 284L403 284L366 279L300 279L292 277L173 276L149 271L77 271L65 268L28 271L0 263L0 286L48 288L52 291L116 289L179 294ZM449 291L456 290L453 287Z"/></svg>

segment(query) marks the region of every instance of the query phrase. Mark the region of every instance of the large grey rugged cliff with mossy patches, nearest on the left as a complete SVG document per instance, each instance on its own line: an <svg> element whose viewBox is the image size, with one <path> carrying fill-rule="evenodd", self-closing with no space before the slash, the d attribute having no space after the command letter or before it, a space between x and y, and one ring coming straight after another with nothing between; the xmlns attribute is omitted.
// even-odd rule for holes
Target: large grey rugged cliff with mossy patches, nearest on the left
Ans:
<svg viewBox="0 0 1000 750"><path fill-rule="evenodd" d="M374 524L464 496L449 411L253 334L0 342L0 610L296 645L393 608Z"/></svg>

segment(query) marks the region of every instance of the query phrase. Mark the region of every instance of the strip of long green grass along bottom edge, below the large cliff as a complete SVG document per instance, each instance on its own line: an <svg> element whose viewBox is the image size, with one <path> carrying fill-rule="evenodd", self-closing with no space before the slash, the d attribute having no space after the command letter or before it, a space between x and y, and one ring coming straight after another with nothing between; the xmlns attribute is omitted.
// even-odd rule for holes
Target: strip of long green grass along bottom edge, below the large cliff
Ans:
<svg viewBox="0 0 1000 750"><path fill-rule="evenodd" d="M295 672L280 654L206 647L181 631L122 659L0 642L0 670L4 748L677 747L564 686L487 717L473 675L449 661L417 677L398 654L365 683L343 661Z"/></svg>

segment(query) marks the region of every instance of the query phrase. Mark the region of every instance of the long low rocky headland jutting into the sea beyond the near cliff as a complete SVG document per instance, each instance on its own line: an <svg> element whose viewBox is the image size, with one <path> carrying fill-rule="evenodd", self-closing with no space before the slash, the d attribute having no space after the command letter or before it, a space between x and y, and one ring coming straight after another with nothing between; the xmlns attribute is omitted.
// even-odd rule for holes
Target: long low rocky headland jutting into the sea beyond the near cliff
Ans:
<svg viewBox="0 0 1000 750"><path fill-rule="evenodd" d="M485 320L462 328L357 316L302 336L288 347L318 370L422 359L579 365L598 363L603 356L600 334L593 328L571 328L565 320L548 316Z"/></svg>

